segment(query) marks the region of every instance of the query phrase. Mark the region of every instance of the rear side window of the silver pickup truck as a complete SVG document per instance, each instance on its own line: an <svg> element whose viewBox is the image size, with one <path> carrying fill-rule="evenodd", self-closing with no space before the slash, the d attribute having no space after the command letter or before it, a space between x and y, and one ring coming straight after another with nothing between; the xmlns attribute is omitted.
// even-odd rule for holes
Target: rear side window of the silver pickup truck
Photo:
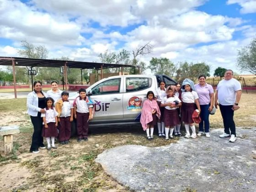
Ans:
<svg viewBox="0 0 256 192"><path fill-rule="evenodd" d="M126 92L139 91L151 87L152 79L143 77L126 78Z"/></svg>

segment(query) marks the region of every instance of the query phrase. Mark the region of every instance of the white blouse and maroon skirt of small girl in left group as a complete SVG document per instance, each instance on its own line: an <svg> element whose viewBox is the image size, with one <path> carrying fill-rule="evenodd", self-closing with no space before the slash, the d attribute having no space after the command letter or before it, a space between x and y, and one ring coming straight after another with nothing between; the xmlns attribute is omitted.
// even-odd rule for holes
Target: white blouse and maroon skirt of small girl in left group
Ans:
<svg viewBox="0 0 256 192"><path fill-rule="evenodd" d="M41 117L45 117L48 128L45 128L43 123L42 136L58 137L57 127L55 127L55 124L56 124L55 117L57 117L59 113L55 110L54 107L51 107L51 108L46 107L44 108L44 110L46 111L46 113L42 113Z"/></svg>

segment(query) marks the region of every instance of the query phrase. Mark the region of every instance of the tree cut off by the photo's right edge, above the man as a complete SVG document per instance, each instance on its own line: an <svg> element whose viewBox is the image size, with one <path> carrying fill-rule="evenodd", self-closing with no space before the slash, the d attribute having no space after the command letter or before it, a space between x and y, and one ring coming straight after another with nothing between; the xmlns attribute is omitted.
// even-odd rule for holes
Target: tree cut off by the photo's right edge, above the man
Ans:
<svg viewBox="0 0 256 192"><path fill-rule="evenodd" d="M252 39L249 46L238 50L237 66L241 71L256 74L256 38Z"/></svg>

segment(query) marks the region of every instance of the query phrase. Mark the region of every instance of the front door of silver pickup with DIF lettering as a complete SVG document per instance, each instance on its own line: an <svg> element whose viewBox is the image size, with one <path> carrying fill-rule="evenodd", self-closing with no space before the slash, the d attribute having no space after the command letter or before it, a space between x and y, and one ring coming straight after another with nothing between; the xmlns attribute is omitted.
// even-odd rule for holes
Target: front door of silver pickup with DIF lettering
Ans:
<svg viewBox="0 0 256 192"><path fill-rule="evenodd" d="M91 121L113 121L123 119L122 78L107 79L91 88L90 101L94 103L94 117Z"/></svg>

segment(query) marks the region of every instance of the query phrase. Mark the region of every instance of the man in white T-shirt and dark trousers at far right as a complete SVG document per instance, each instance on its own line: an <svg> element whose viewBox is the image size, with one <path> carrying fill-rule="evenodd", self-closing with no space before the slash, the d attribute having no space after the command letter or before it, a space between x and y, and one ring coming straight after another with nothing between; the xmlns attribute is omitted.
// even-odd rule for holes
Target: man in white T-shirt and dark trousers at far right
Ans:
<svg viewBox="0 0 256 192"><path fill-rule="evenodd" d="M233 78L233 75L234 73L230 69L225 72L224 80L219 81L217 85L214 102L216 108L219 105L224 124L224 133L219 137L230 137L231 133L229 142L232 143L236 141L234 111L239 109L238 104L242 94L241 84Z"/></svg>

